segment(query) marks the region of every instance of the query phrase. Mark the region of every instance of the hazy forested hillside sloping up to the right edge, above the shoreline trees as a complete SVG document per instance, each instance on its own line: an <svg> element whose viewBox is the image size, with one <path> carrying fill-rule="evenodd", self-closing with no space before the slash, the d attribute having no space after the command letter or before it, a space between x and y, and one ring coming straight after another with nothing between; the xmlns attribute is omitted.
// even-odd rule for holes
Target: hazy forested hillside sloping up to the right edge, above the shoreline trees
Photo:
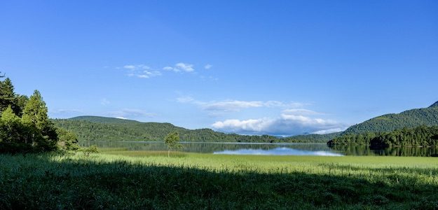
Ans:
<svg viewBox="0 0 438 210"><path fill-rule="evenodd" d="M438 125L438 102L423 109L411 109L402 113L378 116L349 127L343 134L364 134L367 132L390 132L404 127Z"/></svg>

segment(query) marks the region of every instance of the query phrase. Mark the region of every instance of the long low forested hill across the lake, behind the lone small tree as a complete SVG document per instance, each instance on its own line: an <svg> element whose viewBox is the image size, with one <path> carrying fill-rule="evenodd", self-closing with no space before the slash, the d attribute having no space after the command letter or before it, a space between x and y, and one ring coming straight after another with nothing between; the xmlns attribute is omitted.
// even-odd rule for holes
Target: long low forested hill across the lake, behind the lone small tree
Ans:
<svg viewBox="0 0 438 210"><path fill-rule="evenodd" d="M337 134L301 135L278 138L268 135L247 136L224 134L211 129L188 130L170 123L140 123L135 120L81 116L55 119L53 123L74 132L79 141L163 141L170 132L178 132L182 141L198 142L321 142L326 143Z"/></svg>

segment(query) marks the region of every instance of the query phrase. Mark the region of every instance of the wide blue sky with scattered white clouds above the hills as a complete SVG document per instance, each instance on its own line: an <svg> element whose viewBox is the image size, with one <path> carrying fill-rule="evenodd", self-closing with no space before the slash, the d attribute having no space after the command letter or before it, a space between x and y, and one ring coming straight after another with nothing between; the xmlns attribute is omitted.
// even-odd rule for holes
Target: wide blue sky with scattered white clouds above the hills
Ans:
<svg viewBox="0 0 438 210"><path fill-rule="evenodd" d="M438 1L0 1L52 118L327 133L438 100Z"/></svg>

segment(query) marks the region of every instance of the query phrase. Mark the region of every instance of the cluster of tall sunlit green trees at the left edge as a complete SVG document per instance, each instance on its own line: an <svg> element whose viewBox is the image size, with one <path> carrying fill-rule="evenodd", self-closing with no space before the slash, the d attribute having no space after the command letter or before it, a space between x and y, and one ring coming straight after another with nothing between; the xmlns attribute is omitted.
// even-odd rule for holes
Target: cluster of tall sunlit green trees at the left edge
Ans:
<svg viewBox="0 0 438 210"><path fill-rule="evenodd" d="M76 136L48 118L38 90L32 96L16 94L11 79L0 81L0 152L27 153L75 149Z"/></svg>

